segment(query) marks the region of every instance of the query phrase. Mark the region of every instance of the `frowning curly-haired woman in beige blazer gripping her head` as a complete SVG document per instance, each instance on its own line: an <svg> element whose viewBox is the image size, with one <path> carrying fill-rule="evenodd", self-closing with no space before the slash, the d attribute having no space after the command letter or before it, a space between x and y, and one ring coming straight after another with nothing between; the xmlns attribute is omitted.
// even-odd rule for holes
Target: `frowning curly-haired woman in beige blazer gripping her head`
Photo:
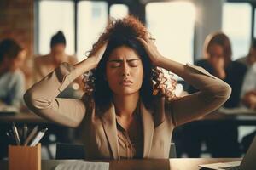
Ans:
<svg viewBox="0 0 256 170"><path fill-rule="evenodd" d="M157 67L201 91L172 99ZM88 71L83 100L56 98ZM88 159L167 158L173 128L217 109L230 91L200 67L162 57L146 28L130 16L111 23L87 59L57 67L26 92L25 100L40 116L82 127Z"/></svg>

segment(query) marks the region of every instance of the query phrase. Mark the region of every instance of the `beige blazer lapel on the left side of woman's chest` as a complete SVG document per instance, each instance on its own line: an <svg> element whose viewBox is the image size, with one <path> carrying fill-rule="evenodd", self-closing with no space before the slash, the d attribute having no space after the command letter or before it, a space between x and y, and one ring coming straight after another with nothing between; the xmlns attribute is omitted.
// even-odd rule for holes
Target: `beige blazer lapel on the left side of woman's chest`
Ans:
<svg viewBox="0 0 256 170"><path fill-rule="evenodd" d="M103 113L101 116L102 124L106 136L108 138L108 144L110 145L113 158L120 159L119 156L119 147L118 147L118 134L117 134L117 127L116 127L116 117L113 104L111 107Z"/></svg>

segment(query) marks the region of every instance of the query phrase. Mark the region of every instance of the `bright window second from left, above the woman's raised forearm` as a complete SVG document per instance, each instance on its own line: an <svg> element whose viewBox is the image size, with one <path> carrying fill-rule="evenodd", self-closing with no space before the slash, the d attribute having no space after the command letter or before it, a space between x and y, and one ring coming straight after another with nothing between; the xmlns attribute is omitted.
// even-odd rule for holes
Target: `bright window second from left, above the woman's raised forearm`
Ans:
<svg viewBox="0 0 256 170"><path fill-rule="evenodd" d="M108 23L108 3L80 1L78 3L78 52L79 61L89 53L92 45Z"/></svg>

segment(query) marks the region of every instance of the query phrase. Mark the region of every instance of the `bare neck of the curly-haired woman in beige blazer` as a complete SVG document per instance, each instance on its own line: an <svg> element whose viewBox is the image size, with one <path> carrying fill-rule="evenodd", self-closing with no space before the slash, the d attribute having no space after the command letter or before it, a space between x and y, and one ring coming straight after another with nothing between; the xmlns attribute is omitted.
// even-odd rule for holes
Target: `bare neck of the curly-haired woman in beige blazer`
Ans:
<svg viewBox="0 0 256 170"><path fill-rule="evenodd" d="M129 94L125 96L114 95L113 105L116 114L120 117L131 117L133 112L136 110L138 100L139 92L137 92L137 94Z"/></svg>

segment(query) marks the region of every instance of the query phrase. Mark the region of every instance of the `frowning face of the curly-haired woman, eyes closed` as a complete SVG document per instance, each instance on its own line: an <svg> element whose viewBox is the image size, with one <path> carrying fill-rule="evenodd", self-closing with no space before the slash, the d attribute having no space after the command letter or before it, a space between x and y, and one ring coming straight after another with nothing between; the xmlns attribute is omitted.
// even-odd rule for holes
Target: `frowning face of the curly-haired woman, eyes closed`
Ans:
<svg viewBox="0 0 256 170"><path fill-rule="evenodd" d="M107 61L106 79L113 94L139 93L143 84L143 63L137 52L127 46L113 49Z"/></svg>

